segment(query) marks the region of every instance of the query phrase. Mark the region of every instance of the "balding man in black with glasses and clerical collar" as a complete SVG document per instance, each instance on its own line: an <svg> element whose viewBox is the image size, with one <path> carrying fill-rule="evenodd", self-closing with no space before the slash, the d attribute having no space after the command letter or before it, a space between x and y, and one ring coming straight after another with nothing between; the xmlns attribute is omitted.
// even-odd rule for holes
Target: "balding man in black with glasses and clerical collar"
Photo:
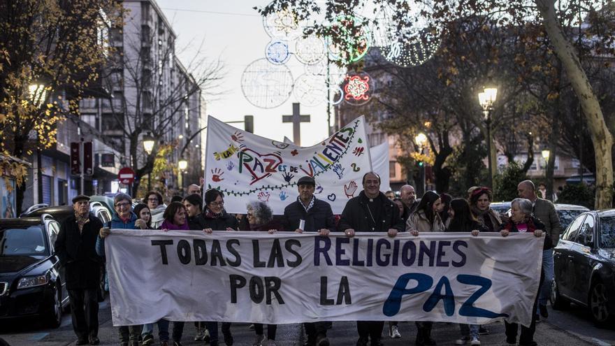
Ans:
<svg viewBox="0 0 615 346"><path fill-rule="evenodd" d="M394 237L405 229L405 224L399 215L399 208L380 192L380 177L369 172L363 175L363 191L350 199L338 224L338 229L344 231L347 237L359 232L386 232ZM357 321L359 340L356 346L367 346L371 338L371 346L380 346L382 342L382 321Z"/></svg>

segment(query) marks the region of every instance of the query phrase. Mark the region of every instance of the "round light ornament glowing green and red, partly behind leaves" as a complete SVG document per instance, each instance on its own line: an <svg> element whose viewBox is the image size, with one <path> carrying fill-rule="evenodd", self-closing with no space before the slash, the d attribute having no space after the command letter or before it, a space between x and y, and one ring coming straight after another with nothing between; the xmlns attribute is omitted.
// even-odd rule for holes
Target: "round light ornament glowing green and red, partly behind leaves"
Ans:
<svg viewBox="0 0 615 346"><path fill-rule="evenodd" d="M370 29L363 25L359 17L340 15L331 26L339 43L334 43L331 38L327 40L330 59L340 60L347 65L361 60L367 54L372 36Z"/></svg>

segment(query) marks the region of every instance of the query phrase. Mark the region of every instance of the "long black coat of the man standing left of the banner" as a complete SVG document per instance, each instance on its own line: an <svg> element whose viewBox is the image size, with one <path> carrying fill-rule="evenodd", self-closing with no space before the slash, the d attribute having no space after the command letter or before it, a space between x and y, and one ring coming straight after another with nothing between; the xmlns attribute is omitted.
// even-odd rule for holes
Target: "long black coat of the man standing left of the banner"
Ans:
<svg viewBox="0 0 615 346"><path fill-rule="evenodd" d="M75 215L66 217L55 240L55 254L64 266L66 289L99 287L101 257L96 254L96 237L103 227L95 216L83 225L81 233Z"/></svg>

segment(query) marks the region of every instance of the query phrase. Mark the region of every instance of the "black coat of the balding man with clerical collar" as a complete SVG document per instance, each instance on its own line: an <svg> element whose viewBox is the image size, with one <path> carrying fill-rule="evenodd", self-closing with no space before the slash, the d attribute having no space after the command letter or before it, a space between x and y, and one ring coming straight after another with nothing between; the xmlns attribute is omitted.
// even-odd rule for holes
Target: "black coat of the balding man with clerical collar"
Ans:
<svg viewBox="0 0 615 346"><path fill-rule="evenodd" d="M356 232L386 232L389 229L397 229L400 232L404 231L404 222L395 203L380 192L375 200L382 203L382 212L380 213L381 217L374 220L374 224L370 217L370 210L368 210L368 200L368 196L363 191L359 196L349 199L344 211L342 211L338 230L354 229Z"/></svg>

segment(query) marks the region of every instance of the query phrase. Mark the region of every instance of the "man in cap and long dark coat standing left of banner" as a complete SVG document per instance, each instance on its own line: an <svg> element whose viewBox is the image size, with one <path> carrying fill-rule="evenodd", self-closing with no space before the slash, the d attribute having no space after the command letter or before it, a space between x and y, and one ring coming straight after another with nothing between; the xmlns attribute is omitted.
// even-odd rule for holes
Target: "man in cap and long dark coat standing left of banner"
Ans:
<svg viewBox="0 0 615 346"><path fill-rule="evenodd" d="M75 214L64 219L55 241L55 254L64 266L66 289L71 299L77 345L98 345L99 303L97 290L101 258L96 254L96 236L103 224L89 213L89 197L73 199Z"/></svg>

